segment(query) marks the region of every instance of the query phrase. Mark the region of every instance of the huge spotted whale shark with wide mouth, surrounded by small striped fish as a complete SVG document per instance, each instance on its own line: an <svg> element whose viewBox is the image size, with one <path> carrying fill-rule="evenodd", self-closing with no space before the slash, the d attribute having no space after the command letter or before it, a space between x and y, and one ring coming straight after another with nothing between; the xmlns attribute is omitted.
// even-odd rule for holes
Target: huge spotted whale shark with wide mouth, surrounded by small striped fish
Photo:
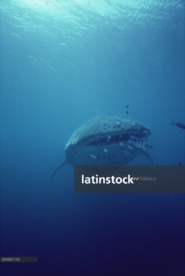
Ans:
<svg viewBox="0 0 185 276"><path fill-rule="evenodd" d="M114 128L116 122L124 127ZM105 122L107 123L106 126ZM139 140L146 142L147 138L151 135L151 131L142 123L137 122L138 127L142 132L137 132L133 128L135 121L122 119L113 116L97 116L84 123L78 128L71 138L68 140L65 147L66 159L61 163L53 172L54 174L63 166L71 165L125 165L131 161L132 158L126 157L123 154L123 149L120 145L120 136L122 135L123 143L127 144L130 136L136 136ZM108 127L109 126L109 127ZM147 132L145 132L145 130ZM97 136L97 132L100 134ZM107 137L111 136L111 140L107 141ZM101 146L102 145L102 146ZM107 152L105 155L104 148L106 146ZM143 152L142 148L133 148L132 156L136 157L139 153L145 155L151 162L151 157ZM95 156L95 158L89 158ZM138 164L140 165L140 164Z"/></svg>

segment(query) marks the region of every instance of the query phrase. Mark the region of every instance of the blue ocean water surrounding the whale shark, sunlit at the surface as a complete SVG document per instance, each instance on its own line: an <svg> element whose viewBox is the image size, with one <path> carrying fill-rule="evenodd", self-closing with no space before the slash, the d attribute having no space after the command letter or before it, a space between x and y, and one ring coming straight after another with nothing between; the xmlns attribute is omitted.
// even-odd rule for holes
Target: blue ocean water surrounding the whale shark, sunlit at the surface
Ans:
<svg viewBox="0 0 185 276"><path fill-rule="evenodd" d="M50 179L74 131L109 113L150 128L154 165L185 165L184 2L0 7L0 255L38 260L0 275L183 276L184 194L74 194L72 165Z"/></svg>

